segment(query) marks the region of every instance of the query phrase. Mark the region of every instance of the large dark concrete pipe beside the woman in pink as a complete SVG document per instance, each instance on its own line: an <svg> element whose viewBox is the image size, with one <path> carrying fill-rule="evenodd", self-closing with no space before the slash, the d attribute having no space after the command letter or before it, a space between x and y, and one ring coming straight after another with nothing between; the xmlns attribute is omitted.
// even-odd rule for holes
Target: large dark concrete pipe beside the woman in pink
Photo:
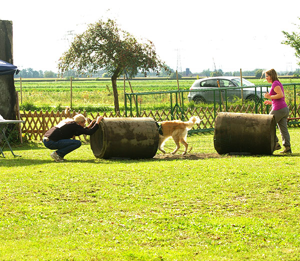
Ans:
<svg viewBox="0 0 300 261"><path fill-rule="evenodd" d="M213 143L219 154L272 154L274 137L273 115L220 112L215 119Z"/></svg>

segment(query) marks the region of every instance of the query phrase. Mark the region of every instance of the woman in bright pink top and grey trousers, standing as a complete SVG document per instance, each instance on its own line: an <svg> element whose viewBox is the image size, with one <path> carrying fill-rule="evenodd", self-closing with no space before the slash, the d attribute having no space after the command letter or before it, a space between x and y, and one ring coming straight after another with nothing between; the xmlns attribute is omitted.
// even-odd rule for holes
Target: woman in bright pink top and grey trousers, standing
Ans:
<svg viewBox="0 0 300 261"><path fill-rule="evenodd" d="M281 153L291 153L290 137L287 130L287 117L289 115L289 109L284 100L283 86L279 81L277 73L274 69L267 70L264 74L267 82L272 83L270 91L264 93L264 97L271 100L265 100L264 104L272 105L272 109L269 114L275 116L275 122L282 137L282 145L284 146L284 149L281 151ZM278 143L276 131L275 142L274 150L280 149L281 146Z"/></svg>

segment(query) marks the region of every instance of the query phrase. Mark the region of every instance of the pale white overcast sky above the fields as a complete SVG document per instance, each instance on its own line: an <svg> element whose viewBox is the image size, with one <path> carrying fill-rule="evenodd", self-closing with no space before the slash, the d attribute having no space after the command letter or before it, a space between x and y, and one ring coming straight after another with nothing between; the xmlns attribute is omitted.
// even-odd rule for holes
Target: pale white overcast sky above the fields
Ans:
<svg viewBox="0 0 300 261"><path fill-rule="evenodd" d="M300 33L299 9L298 0L14 0L1 1L0 19L12 21L19 69L57 72L72 37L110 18L151 40L174 70L285 71L300 67L294 49L281 44L282 30Z"/></svg>

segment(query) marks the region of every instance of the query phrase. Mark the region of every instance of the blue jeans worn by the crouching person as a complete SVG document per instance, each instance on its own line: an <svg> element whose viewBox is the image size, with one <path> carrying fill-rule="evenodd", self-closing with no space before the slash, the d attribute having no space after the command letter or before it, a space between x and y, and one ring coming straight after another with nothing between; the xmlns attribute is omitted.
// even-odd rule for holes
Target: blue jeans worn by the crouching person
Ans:
<svg viewBox="0 0 300 261"><path fill-rule="evenodd" d="M78 148L81 146L81 141L77 139L60 139L57 141L53 141L49 139L48 141L42 140L44 145L49 148L49 149L57 149L56 153L64 157L67 153L70 153L74 149Z"/></svg>

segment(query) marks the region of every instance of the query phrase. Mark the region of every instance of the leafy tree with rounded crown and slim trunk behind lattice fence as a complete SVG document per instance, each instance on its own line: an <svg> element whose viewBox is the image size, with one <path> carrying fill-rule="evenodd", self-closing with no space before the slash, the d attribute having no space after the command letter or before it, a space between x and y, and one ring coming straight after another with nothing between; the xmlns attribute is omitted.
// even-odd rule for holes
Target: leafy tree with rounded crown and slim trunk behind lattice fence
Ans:
<svg viewBox="0 0 300 261"><path fill-rule="evenodd" d="M105 68L112 75L115 111L119 111L117 77L123 73L132 77L138 70L144 75L149 70L158 74L162 67L164 65L151 41L139 43L111 19L89 24L85 32L74 38L70 48L58 61L59 75L69 68L76 68L79 73L95 73Z"/></svg>

